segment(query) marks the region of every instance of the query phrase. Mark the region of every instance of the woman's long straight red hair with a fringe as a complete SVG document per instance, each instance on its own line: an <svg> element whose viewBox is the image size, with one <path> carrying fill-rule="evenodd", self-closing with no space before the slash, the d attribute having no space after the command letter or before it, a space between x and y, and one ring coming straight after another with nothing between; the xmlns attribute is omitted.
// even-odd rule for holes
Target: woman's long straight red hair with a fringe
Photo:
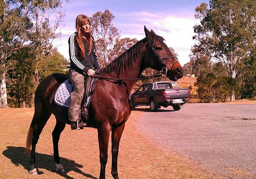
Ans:
<svg viewBox="0 0 256 179"><path fill-rule="evenodd" d="M76 35L76 41L78 42L78 45L81 49L81 56L85 58L86 52L85 52L85 48L84 48L84 42L83 42L83 36L82 36L82 25L85 23L89 23L90 24L90 29L89 32L86 34L86 40L88 41L90 47L89 47L89 52L88 54L91 52L92 50L92 37L91 37L91 23L90 23L90 19L88 18L88 16L80 14L76 17L76 30L77 30L77 35Z"/></svg>

